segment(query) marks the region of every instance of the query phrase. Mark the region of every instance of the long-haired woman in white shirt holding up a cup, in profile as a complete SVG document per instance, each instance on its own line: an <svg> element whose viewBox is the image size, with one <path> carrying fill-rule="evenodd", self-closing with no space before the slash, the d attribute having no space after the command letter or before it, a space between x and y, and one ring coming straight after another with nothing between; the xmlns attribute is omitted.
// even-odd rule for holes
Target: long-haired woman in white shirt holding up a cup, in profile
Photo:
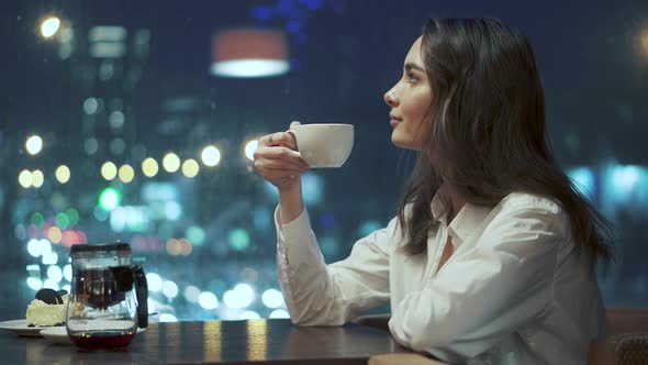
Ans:
<svg viewBox="0 0 648 365"><path fill-rule="evenodd" d="M594 275L607 231L549 153L526 38L492 19L429 20L384 101L392 142L421 153L398 217L338 263L311 230L292 135L259 141L292 321L340 325L390 300L394 339L443 361L584 363L607 325Z"/></svg>

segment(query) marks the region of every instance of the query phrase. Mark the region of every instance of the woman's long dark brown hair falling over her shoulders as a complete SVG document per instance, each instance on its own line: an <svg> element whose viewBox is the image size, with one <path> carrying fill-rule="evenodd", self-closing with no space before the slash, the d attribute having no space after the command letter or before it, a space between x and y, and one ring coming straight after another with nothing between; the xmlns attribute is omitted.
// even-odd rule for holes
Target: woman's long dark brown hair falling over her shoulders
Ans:
<svg viewBox="0 0 648 365"><path fill-rule="evenodd" d="M513 191L560 202L592 268L597 258L607 262L608 223L549 151L543 85L526 37L495 19L429 19L421 53L432 120L422 129L423 148L399 208L402 251L425 252L428 231L438 224L432 198L449 180L477 206L495 206Z"/></svg>

